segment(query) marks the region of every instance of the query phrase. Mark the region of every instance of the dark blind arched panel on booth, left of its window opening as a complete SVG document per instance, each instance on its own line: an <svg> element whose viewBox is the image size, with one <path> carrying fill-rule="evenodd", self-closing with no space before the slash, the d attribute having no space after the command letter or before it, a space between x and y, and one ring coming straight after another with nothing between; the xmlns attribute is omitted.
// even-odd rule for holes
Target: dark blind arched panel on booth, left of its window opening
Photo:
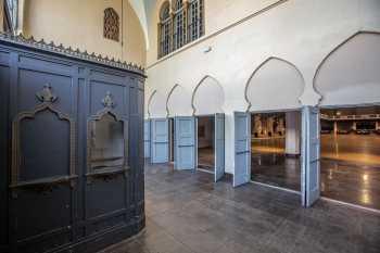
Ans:
<svg viewBox="0 0 380 253"><path fill-rule="evenodd" d="M43 111L35 118L23 119L20 131L20 180L69 175L69 122Z"/></svg>

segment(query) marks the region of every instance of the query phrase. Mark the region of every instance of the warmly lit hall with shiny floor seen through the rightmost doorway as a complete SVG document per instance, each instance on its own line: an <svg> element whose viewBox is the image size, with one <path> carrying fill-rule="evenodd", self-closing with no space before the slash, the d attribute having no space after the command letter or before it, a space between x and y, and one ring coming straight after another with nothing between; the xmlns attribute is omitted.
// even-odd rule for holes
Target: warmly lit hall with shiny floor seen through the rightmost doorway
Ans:
<svg viewBox="0 0 380 253"><path fill-rule="evenodd" d="M321 195L380 210L380 106L322 109Z"/></svg>

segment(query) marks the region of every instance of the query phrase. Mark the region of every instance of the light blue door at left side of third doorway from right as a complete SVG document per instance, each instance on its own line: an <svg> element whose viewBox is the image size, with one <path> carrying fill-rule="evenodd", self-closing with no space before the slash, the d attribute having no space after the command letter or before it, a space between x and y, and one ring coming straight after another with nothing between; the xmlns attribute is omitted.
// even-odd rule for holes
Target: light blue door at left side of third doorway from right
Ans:
<svg viewBox="0 0 380 253"><path fill-rule="evenodd" d="M195 169L195 117L175 118L175 168Z"/></svg>

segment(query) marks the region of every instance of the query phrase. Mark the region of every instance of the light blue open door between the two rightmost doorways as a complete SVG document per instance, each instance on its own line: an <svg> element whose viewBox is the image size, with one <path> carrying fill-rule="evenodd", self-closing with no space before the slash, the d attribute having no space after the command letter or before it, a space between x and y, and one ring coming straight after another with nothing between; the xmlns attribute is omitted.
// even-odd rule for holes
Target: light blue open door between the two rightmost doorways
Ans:
<svg viewBox="0 0 380 253"><path fill-rule="evenodd" d="M302 111L302 205L312 206L320 197L320 130L318 107Z"/></svg>

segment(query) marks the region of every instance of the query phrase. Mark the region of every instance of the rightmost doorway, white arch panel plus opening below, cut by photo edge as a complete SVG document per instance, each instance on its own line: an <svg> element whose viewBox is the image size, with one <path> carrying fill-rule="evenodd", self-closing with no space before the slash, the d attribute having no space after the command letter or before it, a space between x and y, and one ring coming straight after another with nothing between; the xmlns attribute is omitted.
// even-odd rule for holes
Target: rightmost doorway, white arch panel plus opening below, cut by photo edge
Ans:
<svg viewBox="0 0 380 253"><path fill-rule="evenodd" d="M319 64L321 195L380 210L380 34L359 31Z"/></svg>

